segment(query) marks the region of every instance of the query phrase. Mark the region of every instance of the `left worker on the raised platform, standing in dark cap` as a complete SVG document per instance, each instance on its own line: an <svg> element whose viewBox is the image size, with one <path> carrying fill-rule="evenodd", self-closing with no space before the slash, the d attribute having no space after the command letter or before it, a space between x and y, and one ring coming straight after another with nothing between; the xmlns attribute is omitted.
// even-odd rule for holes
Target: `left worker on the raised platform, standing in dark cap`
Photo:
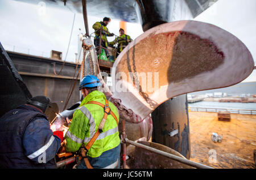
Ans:
<svg viewBox="0 0 256 180"><path fill-rule="evenodd" d="M113 33L110 33L108 28L106 26L108 26L109 22L110 22L110 18L105 17L103 19L103 22L96 22L93 24L93 29L95 30L95 37L94 37L94 45L96 47L96 49L100 46L100 34L101 34L101 45L104 48L108 48L108 39L107 36L114 36ZM102 30L102 32L101 32ZM100 54L100 49L97 49L97 53ZM106 51L106 49L104 49L106 56L109 56L108 51Z"/></svg>

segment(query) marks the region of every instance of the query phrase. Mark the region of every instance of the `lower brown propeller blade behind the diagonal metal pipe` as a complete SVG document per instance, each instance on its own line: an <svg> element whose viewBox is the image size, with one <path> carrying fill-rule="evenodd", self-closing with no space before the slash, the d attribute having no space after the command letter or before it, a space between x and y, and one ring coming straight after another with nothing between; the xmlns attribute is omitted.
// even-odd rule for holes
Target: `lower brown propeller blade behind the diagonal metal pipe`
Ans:
<svg viewBox="0 0 256 180"><path fill-rule="evenodd" d="M141 143L143 145L150 146L151 148L159 149L164 152L174 154L178 157L185 158L182 156L179 152L176 152L174 149L171 149L167 146L164 146L162 144L158 143L151 143L147 141L139 141L138 143ZM129 148L127 147L127 156L130 158L126 160L127 166L130 169L191 169L193 167L184 165L180 162L177 162L175 160L171 160L170 158L166 158L160 154L150 152L148 150L144 150L142 148L137 148L133 145L129 145ZM141 161L143 160L143 161Z"/></svg>

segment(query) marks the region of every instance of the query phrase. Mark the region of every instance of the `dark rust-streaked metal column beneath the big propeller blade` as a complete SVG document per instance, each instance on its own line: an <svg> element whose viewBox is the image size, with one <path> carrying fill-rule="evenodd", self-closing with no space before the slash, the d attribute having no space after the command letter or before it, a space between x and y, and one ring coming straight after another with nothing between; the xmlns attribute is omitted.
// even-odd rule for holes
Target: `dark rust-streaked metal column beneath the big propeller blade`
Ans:
<svg viewBox="0 0 256 180"><path fill-rule="evenodd" d="M184 112L185 111L185 112ZM152 142L166 145L184 157L191 157L187 96L180 95L160 104L152 113ZM177 131L175 135L173 132Z"/></svg>

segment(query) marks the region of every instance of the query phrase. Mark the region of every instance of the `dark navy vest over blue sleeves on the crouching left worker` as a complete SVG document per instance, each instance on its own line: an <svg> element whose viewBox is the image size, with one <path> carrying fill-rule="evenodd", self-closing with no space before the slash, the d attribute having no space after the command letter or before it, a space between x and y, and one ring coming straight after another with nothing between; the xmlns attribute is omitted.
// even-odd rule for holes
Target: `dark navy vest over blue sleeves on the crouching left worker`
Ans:
<svg viewBox="0 0 256 180"><path fill-rule="evenodd" d="M24 153L24 132L30 123L38 119L46 120L48 123L46 115L26 105L19 106L0 118L0 168L55 168L53 159L46 163L38 163ZM38 137L35 139L40 141Z"/></svg>

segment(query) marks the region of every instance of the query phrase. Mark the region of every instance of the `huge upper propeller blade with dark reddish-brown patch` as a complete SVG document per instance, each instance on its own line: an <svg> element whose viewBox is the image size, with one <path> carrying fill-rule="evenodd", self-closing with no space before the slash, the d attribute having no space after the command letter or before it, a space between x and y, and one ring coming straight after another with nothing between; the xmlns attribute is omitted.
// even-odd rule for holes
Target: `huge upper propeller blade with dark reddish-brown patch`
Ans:
<svg viewBox="0 0 256 180"><path fill-rule="evenodd" d="M127 110L143 119L159 104L180 94L217 89L241 82L254 69L246 46L234 35L212 24L196 21L165 23L137 37L118 56L112 78L127 92L114 91ZM142 90L137 73L159 73L158 89ZM147 77L149 78L149 77ZM154 85L154 78L152 84ZM135 86L136 85L136 86Z"/></svg>

